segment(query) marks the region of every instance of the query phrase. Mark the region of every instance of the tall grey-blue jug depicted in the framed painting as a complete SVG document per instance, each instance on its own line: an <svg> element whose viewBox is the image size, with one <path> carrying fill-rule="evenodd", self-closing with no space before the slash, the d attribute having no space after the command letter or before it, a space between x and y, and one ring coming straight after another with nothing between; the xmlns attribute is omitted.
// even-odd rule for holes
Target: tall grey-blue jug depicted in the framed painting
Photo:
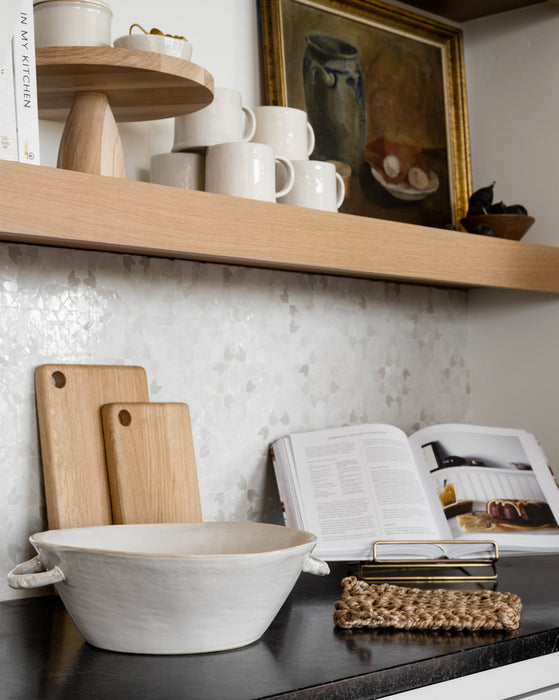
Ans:
<svg viewBox="0 0 559 700"><path fill-rule="evenodd" d="M309 121L316 136L313 157L363 161L366 140L365 84L359 50L343 39L317 32L305 36L303 82Z"/></svg>

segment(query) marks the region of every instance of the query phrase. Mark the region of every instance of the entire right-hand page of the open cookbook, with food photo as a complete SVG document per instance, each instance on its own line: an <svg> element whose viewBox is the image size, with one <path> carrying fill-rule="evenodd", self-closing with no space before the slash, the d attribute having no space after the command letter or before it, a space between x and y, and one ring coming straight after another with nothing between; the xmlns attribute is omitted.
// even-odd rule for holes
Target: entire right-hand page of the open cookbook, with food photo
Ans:
<svg viewBox="0 0 559 700"><path fill-rule="evenodd" d="M559 550L559 488L527 431L438 425L410 436L452 536L491 539L504 551Z"/></svg>

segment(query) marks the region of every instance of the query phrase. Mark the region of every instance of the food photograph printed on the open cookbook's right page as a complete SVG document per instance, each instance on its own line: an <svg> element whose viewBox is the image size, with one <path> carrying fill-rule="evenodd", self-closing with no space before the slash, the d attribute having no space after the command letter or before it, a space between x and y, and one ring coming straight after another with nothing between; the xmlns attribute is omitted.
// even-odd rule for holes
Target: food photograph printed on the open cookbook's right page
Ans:
<svg viewBox="0 0 559 700"><path fill-rule="evenodd" d="M517 436L448 432L423 444L422 452L454 536L557 534L556 517Z"/></svg>

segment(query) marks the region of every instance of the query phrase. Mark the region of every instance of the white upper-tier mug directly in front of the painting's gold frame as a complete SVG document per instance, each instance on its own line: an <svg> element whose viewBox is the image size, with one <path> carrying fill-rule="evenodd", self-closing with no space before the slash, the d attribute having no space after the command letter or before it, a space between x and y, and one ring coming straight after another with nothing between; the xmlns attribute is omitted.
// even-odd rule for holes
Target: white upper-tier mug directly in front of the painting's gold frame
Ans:
<svg viewBox="0 0 559 700"><path fill-rule="evenodd" d="M252 140L267 143L277 156L306 160L314 150L314 131L307 113L294 107L263 105L254 108L256 130Z"/></svg>

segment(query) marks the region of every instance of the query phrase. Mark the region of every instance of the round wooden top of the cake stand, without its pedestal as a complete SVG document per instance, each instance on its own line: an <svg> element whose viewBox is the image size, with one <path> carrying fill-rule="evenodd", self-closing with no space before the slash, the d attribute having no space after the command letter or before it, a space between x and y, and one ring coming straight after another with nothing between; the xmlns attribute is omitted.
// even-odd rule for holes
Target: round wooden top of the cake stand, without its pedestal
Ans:
<svg viewBox="0 0 559 700"><path fill-rule="evenodd" d="M109 46L37 49L39 116L63 121L76 95L106 95L116 121L166 119L213 100L213 77L190 61Z"/></svg>

